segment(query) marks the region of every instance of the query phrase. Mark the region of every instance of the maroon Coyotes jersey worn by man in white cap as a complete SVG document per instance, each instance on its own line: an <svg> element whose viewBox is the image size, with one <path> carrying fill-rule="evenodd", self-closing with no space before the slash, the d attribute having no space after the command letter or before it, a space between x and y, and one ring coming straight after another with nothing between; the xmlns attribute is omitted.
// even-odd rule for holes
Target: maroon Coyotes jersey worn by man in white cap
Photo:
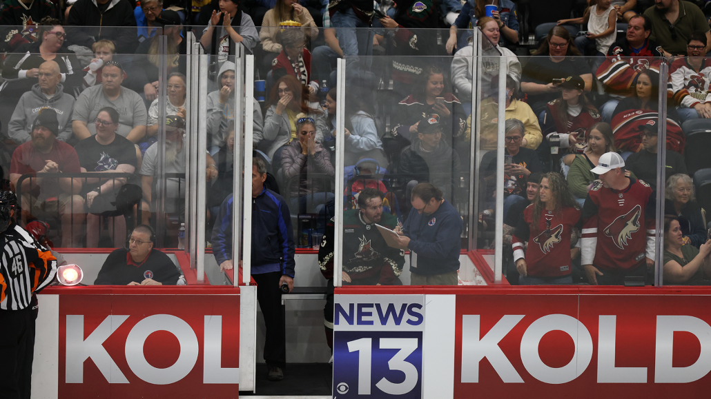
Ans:
<svg viewBox="0 0 711 399"><path fill-rule="evenodd" d="M596 182L582 209L582 264L631 269L654 260L656 194L643 180L630 178L617 191Z"/></svg>

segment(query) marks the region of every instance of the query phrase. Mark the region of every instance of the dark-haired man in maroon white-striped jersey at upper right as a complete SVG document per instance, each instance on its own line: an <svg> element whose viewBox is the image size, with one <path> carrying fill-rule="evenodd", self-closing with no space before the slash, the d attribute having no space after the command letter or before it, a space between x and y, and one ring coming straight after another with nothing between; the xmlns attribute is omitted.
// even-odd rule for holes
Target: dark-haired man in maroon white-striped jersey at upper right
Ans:
<svg viewBox="0 0 711 399"><path fill-rule="evenodd" d="M650 38L652 22L646 15L630 18L627 33L612 43L605 61L597 68L597 78L605 85L611 99L600 109L602 121L610 123L615 107L624 97L634 95L639 73L646 69L659 72L662 48Z"/></svg>

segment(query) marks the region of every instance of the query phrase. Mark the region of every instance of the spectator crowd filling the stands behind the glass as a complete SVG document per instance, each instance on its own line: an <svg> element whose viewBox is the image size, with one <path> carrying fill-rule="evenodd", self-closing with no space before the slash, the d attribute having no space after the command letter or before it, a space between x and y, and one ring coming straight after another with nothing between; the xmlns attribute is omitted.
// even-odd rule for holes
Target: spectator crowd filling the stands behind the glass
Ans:
<svg viewBox="0 0 711 399"><path fill-rule="evenodd" d="M343 279L369 285L400 282L402 250L412 283L456 285L462 238L477 229L477 247L491 247L501 212L512 284L649 282L663 195L665 278L711 280L711 197L701 197L711 161L698 150L711 144L700 133L711 129L703 4L588 0L531 41L510 0L198 3L4 1L0 165L22 226L48 223L58 246L118 248L135 226L161 224L164 246L181 245L197 133L207 140L205 226L208 236L224 229L243 50L255 55L257 175L283 197L295 246L323 240L326 278L336 212L348 212L346 233L364 231L343 244L353 257ZM204 132L186 125L186 72L197 66L188 35L210 59L199 71L209 80ZM336 89L338 58L346 87ZM341 124L345 190L334 192ZM479 209L469 209L475 188ZM374 236L383 226L397 234Z"/></svg>

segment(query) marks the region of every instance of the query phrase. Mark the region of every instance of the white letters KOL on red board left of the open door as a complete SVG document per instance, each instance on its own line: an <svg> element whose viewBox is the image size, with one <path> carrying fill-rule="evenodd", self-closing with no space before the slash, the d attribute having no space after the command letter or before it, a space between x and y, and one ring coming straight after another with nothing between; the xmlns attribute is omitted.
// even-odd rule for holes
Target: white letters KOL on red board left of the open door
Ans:
<svg viewBox="0 0 711 399"><path fill-rule="evenodd" d="M66 316L65 382L84 383L84 364L91 359L109 383L129 383L104 342L129 318L128 315L109 315L87 337L84 316ZM222 316L205 315L203 332L203 383L237 384L239 368L223 368ZM180 354L172 366L156 368L146 361L144 343L150 334L166 331L180 344ZM185 378L198 361L198 337L188 322L174 315L151 315L140 319L128 334L125 344L126 361L131 371L146 383L167 385Z"/></svg>

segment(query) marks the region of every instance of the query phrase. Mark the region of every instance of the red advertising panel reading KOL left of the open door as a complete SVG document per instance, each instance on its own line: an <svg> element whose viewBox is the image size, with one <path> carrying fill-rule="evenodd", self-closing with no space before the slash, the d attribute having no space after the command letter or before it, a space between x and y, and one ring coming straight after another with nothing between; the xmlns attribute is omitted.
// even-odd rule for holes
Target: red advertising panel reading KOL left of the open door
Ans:
<svg viewBox="0 0 711 399"><path fill-rule="evenodd" d="M237 398L239 315L239 295L60 295L58 398Z"/></svg>

